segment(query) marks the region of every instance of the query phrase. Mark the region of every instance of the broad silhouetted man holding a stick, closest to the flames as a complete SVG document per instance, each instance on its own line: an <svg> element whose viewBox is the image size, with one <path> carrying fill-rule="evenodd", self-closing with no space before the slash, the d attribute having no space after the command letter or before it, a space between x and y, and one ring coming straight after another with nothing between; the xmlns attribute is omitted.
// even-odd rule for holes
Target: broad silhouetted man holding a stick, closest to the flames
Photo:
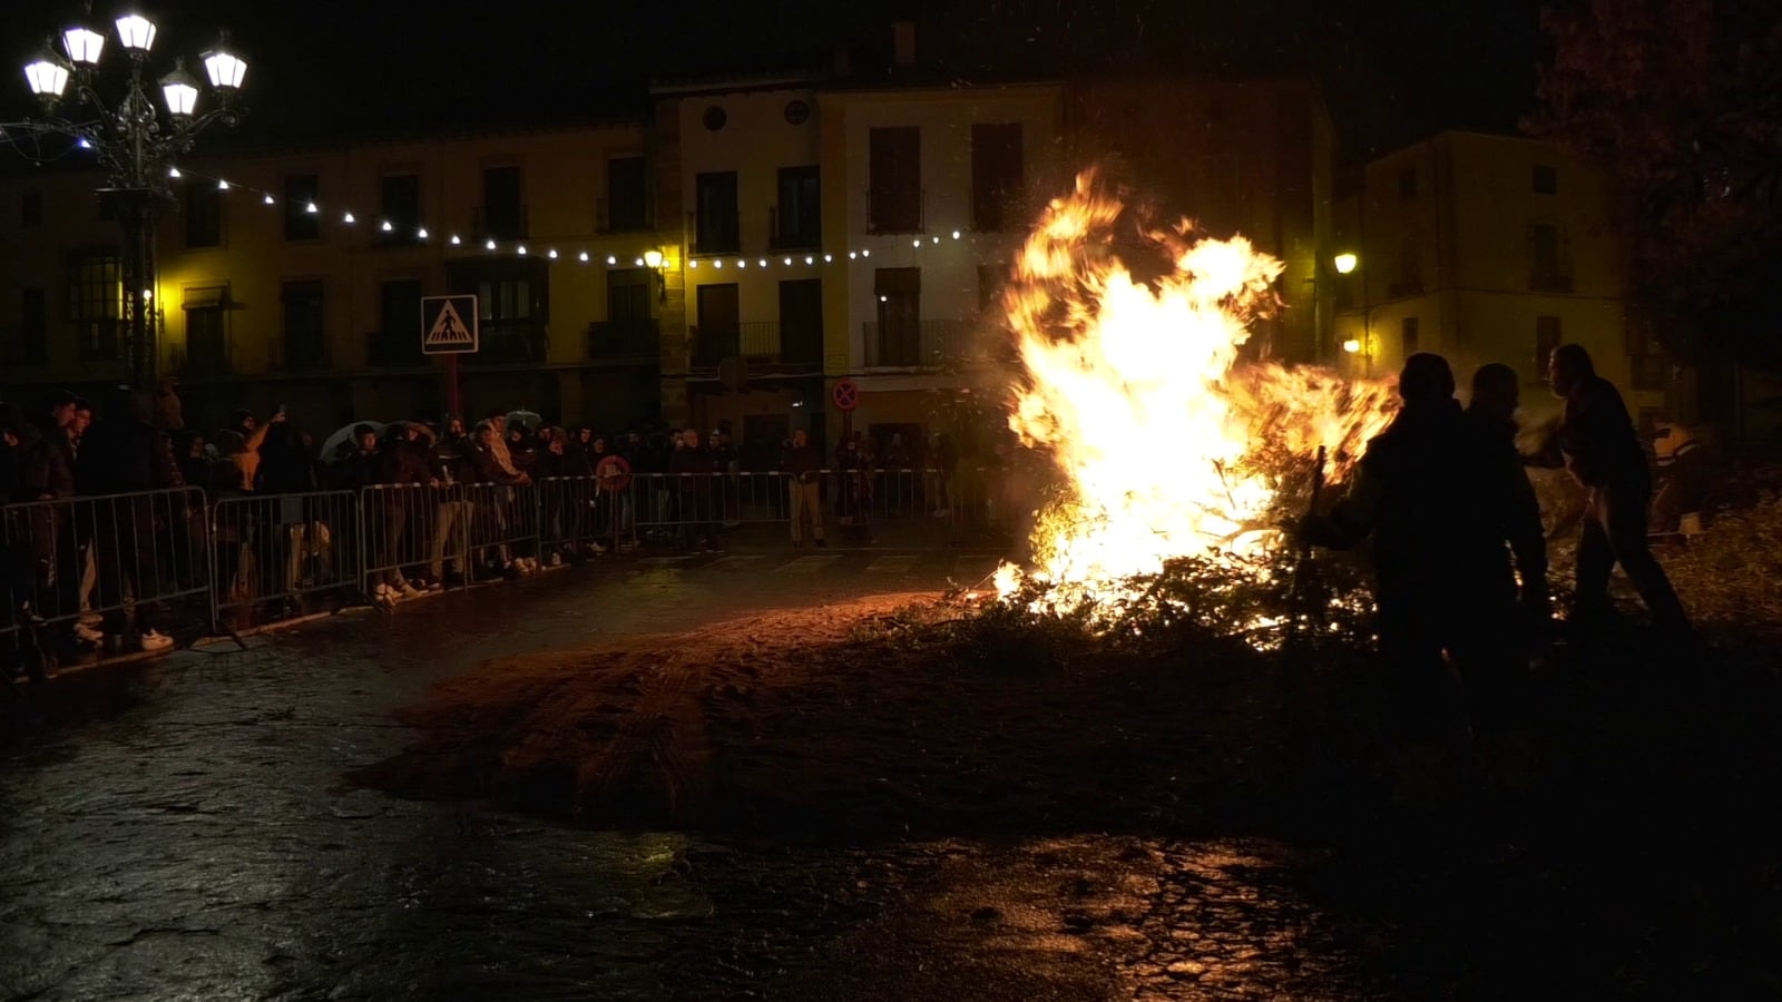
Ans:
<svg viewBox="0 0 1782 1002"><path fill-rule="evenodd" d="M1301 533L1331 549L1372 537L1379 653L1401 736L1465 743L1461 686L1490 720L1527 665L1506 547L1516 478L1524 487L1527 478L1461 414L1440 355L1406 358L1399 396L1404 408L1369 442L1347 497L1328 515L1306 517Z"/></svg>

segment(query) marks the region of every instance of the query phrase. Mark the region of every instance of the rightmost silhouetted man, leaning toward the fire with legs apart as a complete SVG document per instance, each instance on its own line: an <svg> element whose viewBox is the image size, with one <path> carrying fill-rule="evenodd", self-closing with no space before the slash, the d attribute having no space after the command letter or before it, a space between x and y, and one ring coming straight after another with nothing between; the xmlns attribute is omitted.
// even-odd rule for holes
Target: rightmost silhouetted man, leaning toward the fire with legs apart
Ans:
<svg viewBox="0 0 1782 1002"><path fill-rule="evenodd" d="M1559 453L1566 471L1588 492L1584 528L1577 542L1577 585L1572 624L1584 638L1609 613L1609 572L1620 562L1652 622L1673 640L1689 635L1689 619L1670 578L1647 546L1647 508L1652 471L1634 433L1634 421L1614 383L1597 374L1582 344L1554 348L1547 365L1554 396L1565 401L1559 417Z"/></svg>

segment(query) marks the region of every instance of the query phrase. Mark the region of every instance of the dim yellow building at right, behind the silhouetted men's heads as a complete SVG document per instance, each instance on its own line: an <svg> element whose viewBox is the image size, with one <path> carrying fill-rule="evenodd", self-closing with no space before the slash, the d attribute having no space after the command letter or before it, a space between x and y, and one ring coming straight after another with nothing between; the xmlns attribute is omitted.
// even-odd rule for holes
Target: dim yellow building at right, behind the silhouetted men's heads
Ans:
<svg viewBox="0 0 1782 1002"><path fill-rule="evenodd" d="M1538 414L1556 408L1547 355L1577 342L1636 417L1657 419L1675 374L1627 323L1611 212L1607 178L1550 143L1443 132L1370 162L1336 212L1336 244L1356 259L1336 280L1345 367L1385 376L1436 351L1465 392L1502 362Z"/></svg>

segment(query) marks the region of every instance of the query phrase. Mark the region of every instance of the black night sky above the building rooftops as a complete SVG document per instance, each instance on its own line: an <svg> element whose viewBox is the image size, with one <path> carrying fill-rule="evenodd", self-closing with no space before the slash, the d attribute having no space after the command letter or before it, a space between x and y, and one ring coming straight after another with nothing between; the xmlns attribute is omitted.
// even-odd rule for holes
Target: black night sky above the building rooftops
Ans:
<svg viewBox="0 0 1782 1002"><path fill-rule="evenodd" d="M0 48L23 64L77 11L34 5L0 29ZM175 52L194 55L216 27L233 30L251 59L253 114L239 139L255 144L634 116L652 77L822 66L838 39L882 50L886 25L912 16L920 52L959 80L1107 68L1317 73L1342 157L1354 160L1443 127L1513 128L1534 100L1538 11L1534 0L168 0L151 12L168 50L157 73ZM857 68L871 62L857 52ZM0 119L34 111L14 77Z"/></svg>

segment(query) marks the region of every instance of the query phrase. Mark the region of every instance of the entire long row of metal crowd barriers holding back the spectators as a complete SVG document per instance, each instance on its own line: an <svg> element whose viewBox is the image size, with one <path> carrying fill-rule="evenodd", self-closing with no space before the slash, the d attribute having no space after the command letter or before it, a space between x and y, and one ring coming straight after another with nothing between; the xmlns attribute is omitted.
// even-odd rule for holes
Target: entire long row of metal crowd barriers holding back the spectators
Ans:
<svg viewBox="0 0 1782 1002"><path fill-rule="evenodd" d="M203 597L216 628L308 612L310 599L376 594L415 578L499 578L517 562L686 542L723 528L820 517L827 531L871 537L893 524L937 526L957 542L1009 533L1032 490L994 467L825 469L798 487L786 472L640 472L538 483L388 485L225 497L196 487L0 508L0 637L48 629L139 629L162 603Z"/></svg>

